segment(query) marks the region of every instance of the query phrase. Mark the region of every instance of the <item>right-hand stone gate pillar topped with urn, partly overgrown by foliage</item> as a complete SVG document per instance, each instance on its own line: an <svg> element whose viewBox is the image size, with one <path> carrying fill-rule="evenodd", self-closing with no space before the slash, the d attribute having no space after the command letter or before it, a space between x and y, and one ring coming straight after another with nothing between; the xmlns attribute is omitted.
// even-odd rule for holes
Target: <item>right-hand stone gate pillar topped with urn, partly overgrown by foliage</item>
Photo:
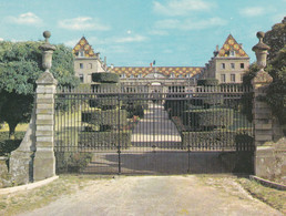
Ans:
<svg viewBox="0 0 286 216"><path fill-rule="evenodd" d="M257 58L259 71L253 79L254 89L253 116L254 116L254 140L255 140L255 175L265 176L265 171L273 163L273 148L267 146L273 141L273 116L270 107L259 97L266 95L266 90L273 82L273 78L264 71L266 66L267 51L270 49L263 42L264 32L257 32L259 42L253 47L253 51Z"/></svg>

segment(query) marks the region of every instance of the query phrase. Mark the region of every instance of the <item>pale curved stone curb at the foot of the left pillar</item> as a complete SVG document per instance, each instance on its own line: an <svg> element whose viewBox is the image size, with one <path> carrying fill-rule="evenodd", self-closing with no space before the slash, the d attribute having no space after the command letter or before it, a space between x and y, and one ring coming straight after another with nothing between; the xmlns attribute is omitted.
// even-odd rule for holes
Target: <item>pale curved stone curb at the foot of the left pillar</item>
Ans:
<svg viewBox="0 0 286 216"><path fill-rule="evenodd" d="M41 186L44 186L55 179L58 179L59 176L53 176L53 177L50 177L50 178L47 178L47 179L43 179L43 181L39 181L39 182L35 182L35 183L30 183L30 184L27 184L27 185L21 185L21 186L16 186L16 187L7 187L7 188L2 188L0 189L0 195L4 195L4 194L11 194L11 193L16 193L16 192L22 192L22 191L28 191L28 189L33 189L33 188L37 188L37 187L41 187Z"/></svg>

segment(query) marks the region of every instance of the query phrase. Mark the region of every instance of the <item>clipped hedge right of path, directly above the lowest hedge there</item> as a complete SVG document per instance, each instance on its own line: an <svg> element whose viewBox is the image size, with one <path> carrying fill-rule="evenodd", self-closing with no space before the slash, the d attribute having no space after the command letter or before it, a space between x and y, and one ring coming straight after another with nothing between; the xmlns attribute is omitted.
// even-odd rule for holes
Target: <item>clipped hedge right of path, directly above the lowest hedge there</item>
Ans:
<svg viewBox="0 0 286 216"><path fill-rule="evenodd" d="M234 111L232 109L188 110L183 112L182 121L186 126L208 130L232 125L233 115Z"/></svg>

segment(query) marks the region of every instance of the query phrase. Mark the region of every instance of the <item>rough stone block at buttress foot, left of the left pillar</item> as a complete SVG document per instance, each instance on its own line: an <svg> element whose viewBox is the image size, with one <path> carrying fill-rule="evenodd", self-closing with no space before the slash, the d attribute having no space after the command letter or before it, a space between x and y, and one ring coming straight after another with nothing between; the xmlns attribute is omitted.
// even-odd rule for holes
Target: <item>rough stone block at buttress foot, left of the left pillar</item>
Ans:
<svg viewBox="0 0 286 216"><path fill-rule="evenodd" d="M13 151L9 166L12 184L22 185L33 181L33 152Z"/></svg>

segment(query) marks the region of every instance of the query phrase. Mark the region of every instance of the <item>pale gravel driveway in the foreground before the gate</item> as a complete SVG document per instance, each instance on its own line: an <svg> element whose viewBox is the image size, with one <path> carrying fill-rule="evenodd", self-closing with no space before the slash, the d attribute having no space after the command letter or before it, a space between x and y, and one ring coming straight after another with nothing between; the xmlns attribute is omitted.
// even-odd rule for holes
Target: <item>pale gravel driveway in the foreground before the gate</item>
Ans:
<svg viewBox="0 0 286 216"><path fill-rule="evenodd" d="M142 176L94 181L91 186L21 216L282 215L252 198L233 178Z"/></svg>

